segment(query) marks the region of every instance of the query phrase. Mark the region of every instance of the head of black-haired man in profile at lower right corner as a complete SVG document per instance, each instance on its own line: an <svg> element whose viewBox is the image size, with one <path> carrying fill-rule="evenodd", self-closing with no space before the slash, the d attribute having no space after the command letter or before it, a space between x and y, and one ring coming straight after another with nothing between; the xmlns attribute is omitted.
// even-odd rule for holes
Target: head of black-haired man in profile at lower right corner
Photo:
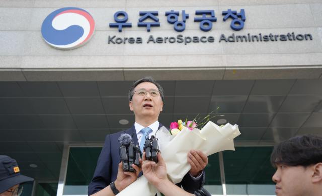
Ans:
<svg viewBox="0 0 322 196"><path fill-rule="evenodd" d="M277 196L322 195L322 138L304 135L275 146L271 163Z"/></svg>

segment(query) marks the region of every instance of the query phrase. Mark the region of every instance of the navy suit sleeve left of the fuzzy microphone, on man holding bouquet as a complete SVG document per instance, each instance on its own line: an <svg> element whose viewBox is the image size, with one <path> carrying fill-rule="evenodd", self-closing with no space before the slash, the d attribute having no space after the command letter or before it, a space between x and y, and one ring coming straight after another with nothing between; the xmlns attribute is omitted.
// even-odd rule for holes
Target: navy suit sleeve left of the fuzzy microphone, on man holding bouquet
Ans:
<svg viewBox="0 0 322 196"><path fill-rule="evenodd" d="M92 181L88 186L88 195L92 195L111 183L111 139L110 135L105 137L104 146L97 161Z"/></svg>

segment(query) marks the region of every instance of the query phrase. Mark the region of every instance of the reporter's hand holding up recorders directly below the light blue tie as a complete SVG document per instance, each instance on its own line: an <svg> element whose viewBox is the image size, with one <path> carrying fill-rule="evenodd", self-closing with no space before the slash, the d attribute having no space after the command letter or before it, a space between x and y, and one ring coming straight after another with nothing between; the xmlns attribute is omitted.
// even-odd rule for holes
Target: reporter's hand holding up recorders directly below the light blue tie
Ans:
<svg viewBox="0 0 322 196"><path fill-rule="evenodd" d="M145 158L145 152L143 152L143 175L153 185L157 186L162 180L167 179L166 163L161 157L161 153L157 153L158 163L154 161L148 161Z"/></svg>

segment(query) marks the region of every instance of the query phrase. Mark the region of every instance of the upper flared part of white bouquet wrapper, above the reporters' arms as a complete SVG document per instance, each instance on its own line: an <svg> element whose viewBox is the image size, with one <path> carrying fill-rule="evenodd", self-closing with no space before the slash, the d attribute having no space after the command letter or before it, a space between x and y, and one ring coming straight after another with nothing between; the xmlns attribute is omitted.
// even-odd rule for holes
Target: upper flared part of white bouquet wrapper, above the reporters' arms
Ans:
<svg viewBox="0 0 322 196"><path fill-rule="evenodd" d="M191 149L200 150L207 156L223 150L235 150L233 139L240 135L237 125L226 124L219 127L209 121L202 130L185 128L171 140L162 152L167 165L168 178L173 183L181 182L190 170L187 153Z"/></svg>

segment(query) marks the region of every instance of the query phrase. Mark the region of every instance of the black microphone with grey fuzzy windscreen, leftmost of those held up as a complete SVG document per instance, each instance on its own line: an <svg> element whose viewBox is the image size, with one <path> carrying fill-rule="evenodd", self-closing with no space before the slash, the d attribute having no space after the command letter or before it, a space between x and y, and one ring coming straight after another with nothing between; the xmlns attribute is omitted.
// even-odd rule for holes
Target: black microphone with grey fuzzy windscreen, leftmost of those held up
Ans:
<svg viewBox="0 0 322 196"><path fill-rule="evenodd" d="M128 150L127 147L132 141L132 137L127 133L122 133L118 141L120 142L120 157L123 163L123 170L129 171ZM133 164L133 163L132 163ZM133 169L133 168L132 168Z"/></svg>

